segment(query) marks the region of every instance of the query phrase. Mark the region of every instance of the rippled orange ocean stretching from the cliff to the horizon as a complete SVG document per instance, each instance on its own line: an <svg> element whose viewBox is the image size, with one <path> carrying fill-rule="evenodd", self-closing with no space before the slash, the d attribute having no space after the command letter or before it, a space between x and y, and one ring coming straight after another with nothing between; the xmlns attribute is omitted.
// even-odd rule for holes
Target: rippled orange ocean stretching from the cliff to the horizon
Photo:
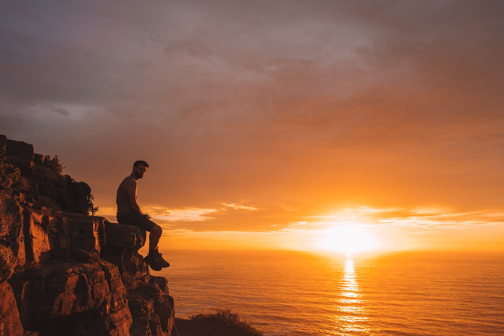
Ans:
<svg viewBox="0 0 504 336"><path fill-rule="evenodd" d="M162 251L175 314L231 308L273 335L504 335L504 254L357 258Z"/></svg>

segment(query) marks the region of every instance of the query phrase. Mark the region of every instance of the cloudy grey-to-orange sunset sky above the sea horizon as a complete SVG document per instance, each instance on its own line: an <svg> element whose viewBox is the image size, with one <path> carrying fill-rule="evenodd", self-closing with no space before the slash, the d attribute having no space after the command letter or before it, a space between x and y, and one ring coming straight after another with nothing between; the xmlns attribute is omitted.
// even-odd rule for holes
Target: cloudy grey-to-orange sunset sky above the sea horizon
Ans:
<svg viewBox="0 0 504 336"><path fill-rule="evenodd" d="M504 3L0 2L0 133L163 248L504 249Z"/></svg>

